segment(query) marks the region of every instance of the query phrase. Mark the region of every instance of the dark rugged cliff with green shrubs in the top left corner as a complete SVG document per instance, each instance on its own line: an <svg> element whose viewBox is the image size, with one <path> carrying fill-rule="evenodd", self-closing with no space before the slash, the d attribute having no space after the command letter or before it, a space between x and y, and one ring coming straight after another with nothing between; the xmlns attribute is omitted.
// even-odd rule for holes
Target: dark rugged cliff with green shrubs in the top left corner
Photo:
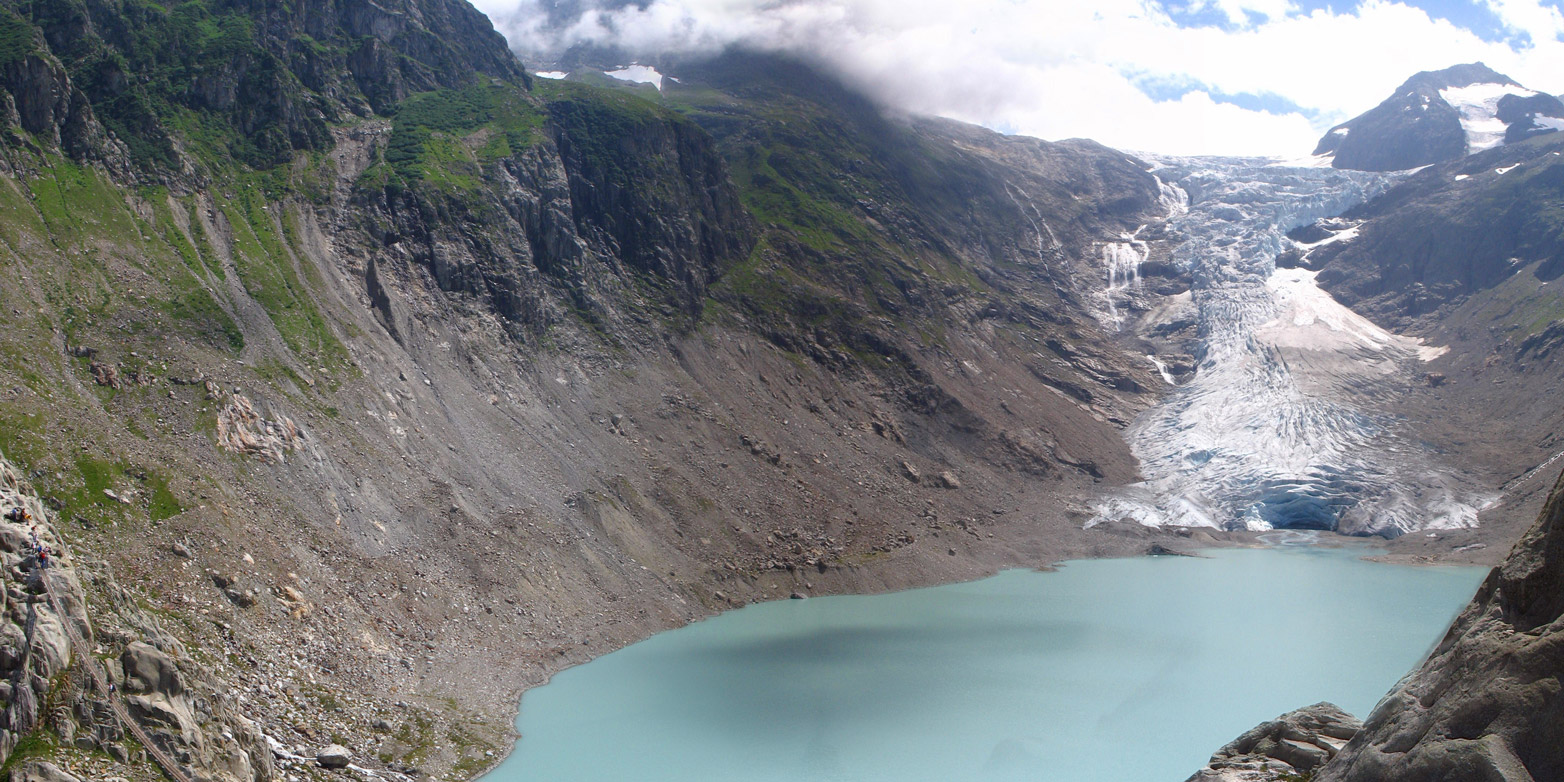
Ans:
<svg viewBox="0 0 1564 782"><path fill-rule="evenodd" d="M529 78L460 0L59 0L6 3L5 17L23 128L63 128L84 160L102 156L102 122L127 153L119 163L158 180L211 175L227 156L269 166L324 150L333 122L394 111L414 92Z"/></svg>

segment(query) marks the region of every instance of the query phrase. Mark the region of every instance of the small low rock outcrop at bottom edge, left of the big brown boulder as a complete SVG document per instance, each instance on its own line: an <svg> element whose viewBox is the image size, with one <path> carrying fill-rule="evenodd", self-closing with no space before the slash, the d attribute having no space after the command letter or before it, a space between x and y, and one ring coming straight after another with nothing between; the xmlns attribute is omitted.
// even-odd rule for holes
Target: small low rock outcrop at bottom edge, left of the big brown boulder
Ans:
<svg viewBox="0 0 1564 782"><path fill-rule="evenodd" d="M1218 749L1189 782L1268 782L1306 774L1336 757L1361 727L1336 704L1287 712Z"/></svg>

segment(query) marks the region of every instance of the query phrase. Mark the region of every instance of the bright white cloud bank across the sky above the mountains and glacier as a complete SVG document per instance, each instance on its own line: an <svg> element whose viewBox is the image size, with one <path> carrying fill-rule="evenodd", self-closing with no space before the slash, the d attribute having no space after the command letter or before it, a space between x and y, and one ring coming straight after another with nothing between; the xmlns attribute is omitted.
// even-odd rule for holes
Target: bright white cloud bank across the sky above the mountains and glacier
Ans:
<svg viewBox="0 0 1564 782"><path fill-rule="evenodd" d="M583 41L643 56L746 44L810 55L907 111L1134 150L1297 156L1417 70L1483 59L1556 89L1564 16L1537 0L1481 2L1530 41L1483 41L1398 0L1308 14L1292 0L1196 6L1223 14L1221 28L1182 28L1153 0L651 0L555 30L540 0L479 6L524 56ZM1154 100L1137 81L1203 89ZM1301 111L1245 109L1220 94Z"/></svg>

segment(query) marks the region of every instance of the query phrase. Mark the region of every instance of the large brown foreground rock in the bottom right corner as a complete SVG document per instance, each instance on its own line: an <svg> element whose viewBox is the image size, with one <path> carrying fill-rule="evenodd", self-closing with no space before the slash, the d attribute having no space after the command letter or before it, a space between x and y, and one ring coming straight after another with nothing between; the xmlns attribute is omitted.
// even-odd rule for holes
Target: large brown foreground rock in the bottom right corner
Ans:
<svg viewBox="0 0 1564 782"><path fill-rule="evenodd" d="M1564 779L1564 475L1412 676L1320 782Z"/></svg>

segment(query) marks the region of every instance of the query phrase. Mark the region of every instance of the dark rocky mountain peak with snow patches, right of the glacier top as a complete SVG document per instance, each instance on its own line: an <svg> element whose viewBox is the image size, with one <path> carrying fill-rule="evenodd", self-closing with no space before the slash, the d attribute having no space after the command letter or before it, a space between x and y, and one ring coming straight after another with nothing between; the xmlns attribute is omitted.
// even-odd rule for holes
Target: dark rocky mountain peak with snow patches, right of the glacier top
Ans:
<svg viewBox="0 0 1564 782"><path fill-rule="evenodd" d="M1337 169L1401 170L1564 128L1564 103L1484 66L1423 70L1314 149Z"/></svg>

